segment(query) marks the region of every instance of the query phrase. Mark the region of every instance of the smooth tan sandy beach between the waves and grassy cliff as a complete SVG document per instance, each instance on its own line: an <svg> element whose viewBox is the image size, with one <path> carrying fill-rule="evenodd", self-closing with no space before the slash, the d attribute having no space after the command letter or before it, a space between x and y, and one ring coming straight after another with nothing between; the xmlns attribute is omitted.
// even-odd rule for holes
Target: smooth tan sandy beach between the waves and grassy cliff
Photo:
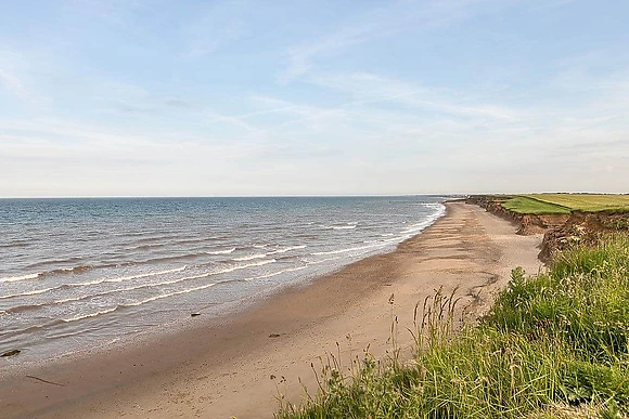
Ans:
<svg viewBox="0 0 629 419"><path fill-rule="evenodd" d="M0 380L5 418L267 418L277 396L293 403L300 381L314 391L311 363L326 352L350 359L367 346L410 356L413 309L455 287L474 319L509 280L511 269L541 267L541 236L476 206L447 204L448 213L396 251L354 263L288 289L227 319L198 325L87 359L57 363ZM347 362L347 364L349 364ZM0 370L1 371L1 370Z"/></svg>

